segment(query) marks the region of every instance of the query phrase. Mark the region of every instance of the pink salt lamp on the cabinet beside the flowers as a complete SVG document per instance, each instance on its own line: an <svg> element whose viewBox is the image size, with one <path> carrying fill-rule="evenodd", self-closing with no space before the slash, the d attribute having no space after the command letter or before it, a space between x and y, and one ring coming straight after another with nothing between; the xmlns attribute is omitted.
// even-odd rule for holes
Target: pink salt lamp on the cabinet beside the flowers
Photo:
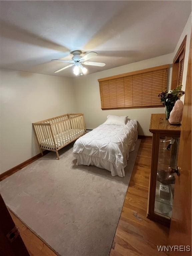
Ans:
<svg viewBox="0 0 192 256"><path fill-rule="evenodd" d="M170 113L169 123L173 125L180 124L182 120L182 115L183 115L183 102L181 100L177 100Z"/></svg>

